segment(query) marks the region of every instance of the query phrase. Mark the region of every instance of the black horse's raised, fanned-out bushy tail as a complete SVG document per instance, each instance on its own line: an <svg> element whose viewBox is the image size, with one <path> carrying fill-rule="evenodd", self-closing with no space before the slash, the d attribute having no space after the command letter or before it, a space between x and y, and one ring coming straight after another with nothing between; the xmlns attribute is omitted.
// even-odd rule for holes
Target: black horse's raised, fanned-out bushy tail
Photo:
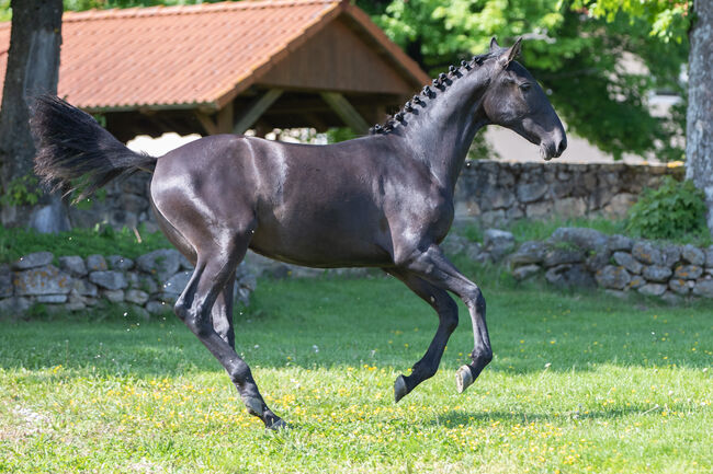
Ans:
<svg viewBox="0 0 713 474"><path fill-rule="evenodd" d="M31 113L35 173L52 190L67 195L79 189L80 200L115 177L156 167L156 158L133 152L91 115L61 99L41 95Z"/></svg>

